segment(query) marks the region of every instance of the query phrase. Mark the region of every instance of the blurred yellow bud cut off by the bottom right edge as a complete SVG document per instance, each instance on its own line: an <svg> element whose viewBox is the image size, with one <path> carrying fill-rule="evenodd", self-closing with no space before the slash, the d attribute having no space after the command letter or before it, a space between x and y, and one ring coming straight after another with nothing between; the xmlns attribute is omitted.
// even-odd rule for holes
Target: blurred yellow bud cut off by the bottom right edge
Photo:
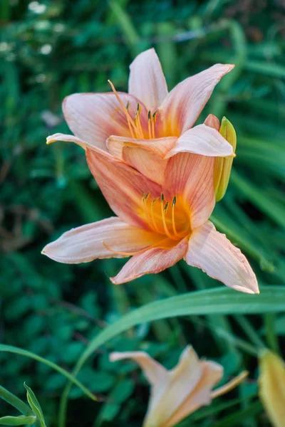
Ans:
<svg viewBox="0 0 285 427"><path fill-rule="evenodd" d="M285 426L285 364L269 350L259 357L259 396L274 427Z"/></svg>

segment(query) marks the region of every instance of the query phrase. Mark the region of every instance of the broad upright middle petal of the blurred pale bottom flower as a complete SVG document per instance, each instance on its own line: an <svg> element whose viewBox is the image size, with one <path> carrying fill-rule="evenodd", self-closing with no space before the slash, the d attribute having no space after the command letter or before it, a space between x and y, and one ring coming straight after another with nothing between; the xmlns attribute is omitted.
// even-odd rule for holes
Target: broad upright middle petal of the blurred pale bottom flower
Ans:
<svg viewBox="0 0 285 427"><path fill-rule="evenodd" d="M187 396L195 389L202 376L202 365L195 350L187 346L177 366L168 371L167 386L152 389L144 427L165 426Z"/></svg>

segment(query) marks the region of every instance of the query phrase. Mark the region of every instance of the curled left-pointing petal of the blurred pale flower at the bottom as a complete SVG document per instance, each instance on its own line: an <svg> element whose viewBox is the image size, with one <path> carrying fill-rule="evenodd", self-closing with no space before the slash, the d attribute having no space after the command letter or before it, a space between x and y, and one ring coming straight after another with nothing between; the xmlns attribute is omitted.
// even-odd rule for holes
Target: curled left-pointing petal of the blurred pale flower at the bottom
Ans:
<svg viewBox="0 0 285 427"><path fill-rule="evenodd" d="M110 362L117 362L118 360L132 359L140 365L147 381L152 386L159 386L164 388L167 384L168 371L162 364L152 359L145 352L113 352L110 354Z"/></svg>

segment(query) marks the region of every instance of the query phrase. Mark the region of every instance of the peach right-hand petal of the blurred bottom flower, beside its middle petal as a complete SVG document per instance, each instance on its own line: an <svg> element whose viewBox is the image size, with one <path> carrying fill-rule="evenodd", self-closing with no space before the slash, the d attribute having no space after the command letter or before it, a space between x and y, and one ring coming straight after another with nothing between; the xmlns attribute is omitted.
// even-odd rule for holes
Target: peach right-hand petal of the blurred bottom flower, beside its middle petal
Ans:
<svg viewBox="0 0 285 427"><path fill-rule="evenodd" d="M223 367L215 362L200 362L202 374L195 389L190 389L187 398L177 408L175 413L167 419L161 427L176 426L182 419L198 408L211 403L211 391L213 387L222 379Z"/></svg>

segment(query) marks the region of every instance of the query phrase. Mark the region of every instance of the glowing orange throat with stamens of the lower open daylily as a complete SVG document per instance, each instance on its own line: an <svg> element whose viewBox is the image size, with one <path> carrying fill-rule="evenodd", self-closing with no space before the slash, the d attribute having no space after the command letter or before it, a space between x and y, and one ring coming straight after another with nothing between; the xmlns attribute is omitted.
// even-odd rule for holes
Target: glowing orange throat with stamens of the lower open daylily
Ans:
<svg viewBox="0 0 285 427"><path fill-rule="evenodd" d="M164 194L155 199L150 193L142 194L142 217L153 231L175 241L191 233L190 211L176 196L166 201Z"/></svg>

